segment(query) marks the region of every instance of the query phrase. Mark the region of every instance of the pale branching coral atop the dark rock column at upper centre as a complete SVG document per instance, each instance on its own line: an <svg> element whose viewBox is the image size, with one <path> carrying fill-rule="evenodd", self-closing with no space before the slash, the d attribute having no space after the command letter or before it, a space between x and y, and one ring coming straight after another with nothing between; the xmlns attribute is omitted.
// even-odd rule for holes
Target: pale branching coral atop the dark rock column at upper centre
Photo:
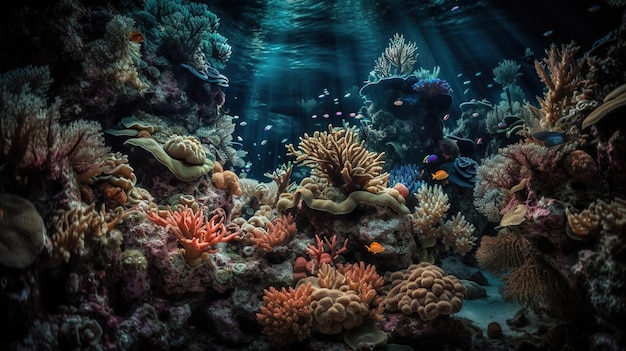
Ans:
<svg viewBox="0 0 626 351"><path fill-rule="evenodd" d="M409 74L417 62L416 52L415 43L405 42L404 35L396 33L389 39L385 52L376 59L374 73L378 78Z"/></svg>

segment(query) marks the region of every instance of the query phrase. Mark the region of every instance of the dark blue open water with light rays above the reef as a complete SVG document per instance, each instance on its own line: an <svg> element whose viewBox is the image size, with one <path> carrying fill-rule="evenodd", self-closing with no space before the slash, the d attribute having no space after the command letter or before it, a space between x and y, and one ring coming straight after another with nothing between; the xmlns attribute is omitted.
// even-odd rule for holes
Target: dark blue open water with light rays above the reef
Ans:
<svg viewBox="0 0 626 351"><path fill-rule="evenodd" d="M453 89L448 123L454 123L461 102L499 101L501 89L492 74L499 62L522 63L520 86L528 101L535 103L543 84L534 67L523 63L526 48L537 58L545 56L551 43L574 41L587 51L622 17L621 11L600 0L218 0L208 4L221 19L219 32L233 48L222 70L231 80L225 106L245 121L237 134L250 152L253 171L261 174L285 162L281 143L285 138L296 142L305 131L349 120L346 115L363 103L355 89L367 80L395 33L417 44L416 68L441 68L440 78ZM298 104L310 99L318 104L311 111ZM342 116L337 117L337 112ZM325 113L330 118L322 118ZM318 118L311 118L314 114ZM272 128L264 131L268 124Z"/></svg>

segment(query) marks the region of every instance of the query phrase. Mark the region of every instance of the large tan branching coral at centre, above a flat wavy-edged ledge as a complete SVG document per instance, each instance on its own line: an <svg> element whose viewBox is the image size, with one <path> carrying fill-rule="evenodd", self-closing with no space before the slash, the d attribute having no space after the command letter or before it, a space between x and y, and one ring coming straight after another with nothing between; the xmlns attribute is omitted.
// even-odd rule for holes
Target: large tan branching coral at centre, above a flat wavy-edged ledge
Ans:
<svg viewBox="0 0 626 351"><path fill-rule="evenodd" d="M296 157L296 164L310 167L312 174L327 179L345 195L356 190L377 193L386 188L389 178L382 172L385 153L369 152L364 144L352 129L333 130L329 125L328 132L300 137L298 150L293 144L286 148L288 156Z"/></svg>

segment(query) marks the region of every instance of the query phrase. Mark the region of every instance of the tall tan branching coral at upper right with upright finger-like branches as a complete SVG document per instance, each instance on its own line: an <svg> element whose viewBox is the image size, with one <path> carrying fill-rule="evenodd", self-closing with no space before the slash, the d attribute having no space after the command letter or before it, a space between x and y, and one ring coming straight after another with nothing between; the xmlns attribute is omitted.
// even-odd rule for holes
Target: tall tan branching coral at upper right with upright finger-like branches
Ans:
<svg viewBox="0 0 626 351"><path fill-rule="evenodd" d="M565 108L575 105L574 92L582 83L580 71L585 60L577 59L580 47L574 42L550 45L546 49L548 57L535 61L535 70L548 91L543 98L537 98L544 113L541 125L545 129L554 128L563 116Z"/></svg>

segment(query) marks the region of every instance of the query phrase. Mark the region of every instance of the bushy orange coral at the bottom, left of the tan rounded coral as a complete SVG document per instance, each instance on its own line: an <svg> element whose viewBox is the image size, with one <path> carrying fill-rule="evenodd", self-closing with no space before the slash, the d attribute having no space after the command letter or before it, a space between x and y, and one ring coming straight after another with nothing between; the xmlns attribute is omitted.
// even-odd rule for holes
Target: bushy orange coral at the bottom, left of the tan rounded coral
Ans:
<svg viewBox="0 0 626 351"><path fill-rule="evenodd" d="M271 344L287 345L311 336L309 303L312 292L311 284L302 284L296 289L270 287L263 290L263 306L256 318L263 326L261 332Z"/></svg>

